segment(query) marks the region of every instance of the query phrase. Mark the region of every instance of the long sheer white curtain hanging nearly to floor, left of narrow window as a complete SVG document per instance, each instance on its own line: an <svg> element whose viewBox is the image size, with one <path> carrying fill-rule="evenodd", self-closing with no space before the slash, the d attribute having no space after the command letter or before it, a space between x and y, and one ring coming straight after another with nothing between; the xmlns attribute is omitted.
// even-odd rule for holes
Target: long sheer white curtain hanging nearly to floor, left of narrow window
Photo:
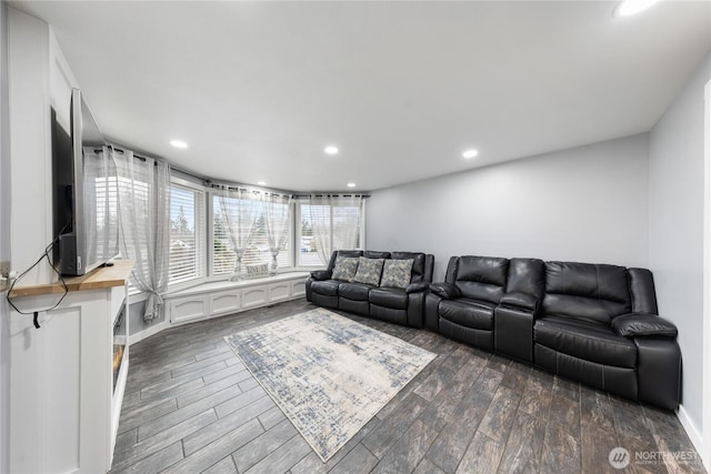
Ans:
<svg viewBox="0 0 711 474"><path fill-rule="evenodd" d="M119 184L121 254L133 260L131 285L148 293L143 319L160 315L168 288L170 165L113 151Z"/></svg>

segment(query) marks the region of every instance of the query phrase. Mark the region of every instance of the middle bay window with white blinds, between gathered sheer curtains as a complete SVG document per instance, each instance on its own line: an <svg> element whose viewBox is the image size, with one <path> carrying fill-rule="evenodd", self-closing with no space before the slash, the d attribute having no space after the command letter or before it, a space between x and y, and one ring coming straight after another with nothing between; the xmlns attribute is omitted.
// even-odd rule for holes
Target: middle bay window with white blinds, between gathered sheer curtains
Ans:
<svg viewBox="0 0 711 474"><path fill-rule="evenodd" d="M289 212L289 205L283 204L283 206L284 211ZM226 214L227 212L230 214ZM293 266L291 258L293 229L292 221L289 222L289 238L277 256L278 269ZM236 232L233 236L229 232L230 223ZM267 233L267 216L261 201L214 195L212 198L212 274L229 274L234 271L237 254L233 238L246 245L242 265L247 269L259 265L270 268L272 256Z"/></svg>

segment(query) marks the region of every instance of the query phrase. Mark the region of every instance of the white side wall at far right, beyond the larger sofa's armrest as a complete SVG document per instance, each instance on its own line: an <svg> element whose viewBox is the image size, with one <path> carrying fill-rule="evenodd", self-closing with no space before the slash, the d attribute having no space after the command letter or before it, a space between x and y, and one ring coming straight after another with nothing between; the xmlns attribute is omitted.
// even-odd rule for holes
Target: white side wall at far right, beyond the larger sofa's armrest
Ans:
<svg viewBox="0 0 711 474"><path fill-rule="evenodd" d="M710 59L650 133L650 266L660 312L679 327L683 356L680 420L702 428L704 84ZM693 431L697 431L694 434ZM705 440L705 443L711 440Z"/></svg>

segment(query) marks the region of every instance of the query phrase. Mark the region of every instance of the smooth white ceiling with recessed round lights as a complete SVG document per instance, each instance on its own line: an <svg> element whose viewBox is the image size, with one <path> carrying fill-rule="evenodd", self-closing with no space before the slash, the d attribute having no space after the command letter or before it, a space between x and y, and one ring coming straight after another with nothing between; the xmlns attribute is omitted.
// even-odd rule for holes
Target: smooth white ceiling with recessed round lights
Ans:
<svg viewBox="0 0 711 474"><path fill-rule="evenodd" d="M52 26L110 140L294 191L649 131L711 48L708 1L624 19L607 1L10 4Z"/></svg>

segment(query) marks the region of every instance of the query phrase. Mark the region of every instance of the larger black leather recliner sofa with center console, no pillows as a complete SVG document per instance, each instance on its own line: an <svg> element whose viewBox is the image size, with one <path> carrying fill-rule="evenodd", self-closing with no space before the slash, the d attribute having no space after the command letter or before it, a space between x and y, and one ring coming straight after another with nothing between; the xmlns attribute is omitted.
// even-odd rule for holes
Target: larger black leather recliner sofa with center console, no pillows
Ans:
<svg viewBox="0 0 711 474"><path fill-rule="evenodd" d="M628 399L675 410L677 327L652 273L538 259L453 256L430 285L425 325Z"/></svg>

